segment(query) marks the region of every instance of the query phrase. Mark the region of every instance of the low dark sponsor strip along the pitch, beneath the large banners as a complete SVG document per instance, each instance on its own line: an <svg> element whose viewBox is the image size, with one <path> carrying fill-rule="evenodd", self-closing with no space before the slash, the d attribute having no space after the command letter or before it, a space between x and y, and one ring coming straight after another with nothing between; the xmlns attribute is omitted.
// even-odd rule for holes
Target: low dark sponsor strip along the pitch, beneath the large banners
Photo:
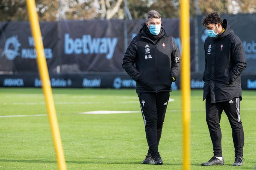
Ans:
<svg viewBox="0 0 256 170"><path fill-rule="evenodd" d="M135 88L136 82L127 74L52 74L54 88ZM191 89L202 89L202 74L191 74ZM256 74L242 74L242 89L256 89ZM41 87L38 74L0 75L0 87ZM171 84L173 90L180 89L179 79Z"/></svg>

